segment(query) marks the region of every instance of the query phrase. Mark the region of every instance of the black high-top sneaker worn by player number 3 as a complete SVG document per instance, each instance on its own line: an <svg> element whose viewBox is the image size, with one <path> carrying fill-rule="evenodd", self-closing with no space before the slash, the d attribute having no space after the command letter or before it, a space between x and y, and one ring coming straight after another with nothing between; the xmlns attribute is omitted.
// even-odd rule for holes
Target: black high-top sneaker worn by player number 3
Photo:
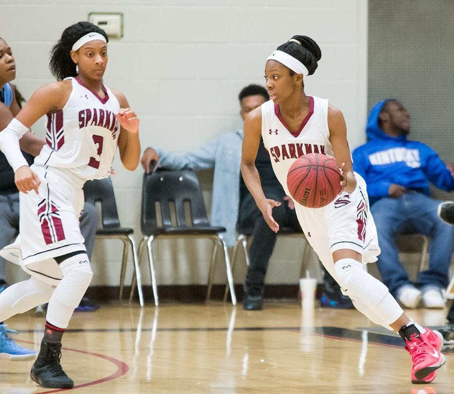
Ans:
<svg viewBox="0 0 454 394"><path fill-rule="evenodd" d="M42 387L72 388L74 382L60 365L62 344L42 340L38 358L34 362L30 377Z"/></svg>

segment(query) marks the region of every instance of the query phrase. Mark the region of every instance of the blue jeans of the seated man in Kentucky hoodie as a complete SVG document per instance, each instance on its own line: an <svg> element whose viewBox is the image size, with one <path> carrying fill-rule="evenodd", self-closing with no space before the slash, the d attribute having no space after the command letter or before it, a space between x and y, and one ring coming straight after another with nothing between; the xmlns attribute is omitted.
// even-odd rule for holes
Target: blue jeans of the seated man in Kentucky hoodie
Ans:
<svg viewBox="0 0 454 394"><path fill-rule="evenodd" d="M398 233L419 233L431 238L429 268L418 274L418 287L427 285L443 288L448 285L454 226L444 223L437 215L440 201L422 193L408 191L400 198L382 198L371 207L378 233L381 254L378 270L389 292L412 284L399 261L394 236Z"/></svg>

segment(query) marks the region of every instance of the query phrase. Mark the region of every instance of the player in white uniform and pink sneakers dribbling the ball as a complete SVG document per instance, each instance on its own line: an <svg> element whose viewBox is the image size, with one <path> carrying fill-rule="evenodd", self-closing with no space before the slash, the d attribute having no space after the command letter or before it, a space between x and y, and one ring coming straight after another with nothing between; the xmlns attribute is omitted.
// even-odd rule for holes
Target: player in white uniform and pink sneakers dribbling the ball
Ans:
<svg viewBox="0 0 454 394"><path fill-rule="evenodd" d="M277 232L272 208L280 203L266 199L254 165L260 137L288 195L287 173L299 156L317 152L335 157L343 175L343 191L323 208L306 208L295 201L301 227L355 307L373 322L400 333L413 361L412 382L430 382L445 362L439 353L441 335L411 321L388 289L363 267L376 261L380 249L366 185L352 171L344 116L327 100L304 92L304 81L315 72L320 58L319 46L307 36L292 37L268 57L265 80L270 100L250 112L244 124L244 181L268 226Z"/></svg>

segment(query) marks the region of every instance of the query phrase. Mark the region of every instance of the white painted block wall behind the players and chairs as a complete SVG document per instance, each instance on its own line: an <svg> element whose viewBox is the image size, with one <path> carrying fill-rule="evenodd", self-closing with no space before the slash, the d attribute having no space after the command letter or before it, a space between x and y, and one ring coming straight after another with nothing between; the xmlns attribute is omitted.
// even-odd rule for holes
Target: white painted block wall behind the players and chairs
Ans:
<svg viewBox="0 0 454 394"><path fill-rule="evenodd" d="M26 97L52 81L48 54L64 28L90 12L122 12L124 37L112 39L107 86L128 97L141 118L141 142L165 149L196 149L241 126L237 95L263 83L264 60L294 34L313 37L322 49L306 92L329 98L344 111L351 148L364 141L366 119L367 2L364 0L2 0L0 36L17 62L16 84ZM43 133L43 122L34 127ZM139 228L141 169L129 173L115 161L122 225ZM209 208L210 174L201 174ZM296 283L302 245L278 241L268 283ZM120 242L97 241L93 285L118 285ZM161 241L156 245L159 284L204 284L211 245L207 241ZM143 261L144 283L150 283ZM220 260L219 260L220 262ZM235 272L244 278L243 262ZM315 264L313 274L316 274ZM129 269L128 279L132 270ZM221 264L217 283L225 280Z"/></svg>

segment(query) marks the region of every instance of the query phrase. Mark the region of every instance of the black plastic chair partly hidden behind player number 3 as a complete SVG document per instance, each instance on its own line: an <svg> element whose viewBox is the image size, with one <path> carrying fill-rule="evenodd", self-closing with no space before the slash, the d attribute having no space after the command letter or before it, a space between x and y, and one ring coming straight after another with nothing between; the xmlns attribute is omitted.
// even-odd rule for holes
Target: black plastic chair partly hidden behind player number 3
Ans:
<svg viewBox="0 0 454 394"><path fill-rule="evenodd" d="M118 218L117 203L110 178L88 181L84 186L85 201L95 205L101 204L102 228L96 231L96 238L99 239L120 239L123 241L123 258L120 273L120 301L123 299L123 286L125 284L126 264L128 262L128 249L131 246L134 271L137 276L137 290L139 292L139 303L143 306L142 281L137 258L137 249L134 241L134 230L120 226Z"/></svg>

